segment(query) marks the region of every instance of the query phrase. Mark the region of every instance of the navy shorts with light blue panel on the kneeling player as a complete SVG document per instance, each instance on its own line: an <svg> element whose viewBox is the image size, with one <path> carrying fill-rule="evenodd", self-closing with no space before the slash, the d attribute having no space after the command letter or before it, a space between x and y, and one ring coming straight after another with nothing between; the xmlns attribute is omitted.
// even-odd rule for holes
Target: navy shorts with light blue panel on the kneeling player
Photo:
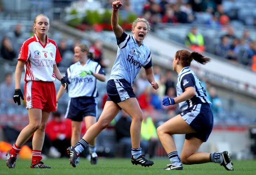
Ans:
<svg viewBox="0 0 256 175"><path fill-rule="evenodd" d="M194 136L206 142L213 130L213 112L210 106L197 104L180 115L195 130L195 133L186 134L185 138L189 139Z"/></svg>

